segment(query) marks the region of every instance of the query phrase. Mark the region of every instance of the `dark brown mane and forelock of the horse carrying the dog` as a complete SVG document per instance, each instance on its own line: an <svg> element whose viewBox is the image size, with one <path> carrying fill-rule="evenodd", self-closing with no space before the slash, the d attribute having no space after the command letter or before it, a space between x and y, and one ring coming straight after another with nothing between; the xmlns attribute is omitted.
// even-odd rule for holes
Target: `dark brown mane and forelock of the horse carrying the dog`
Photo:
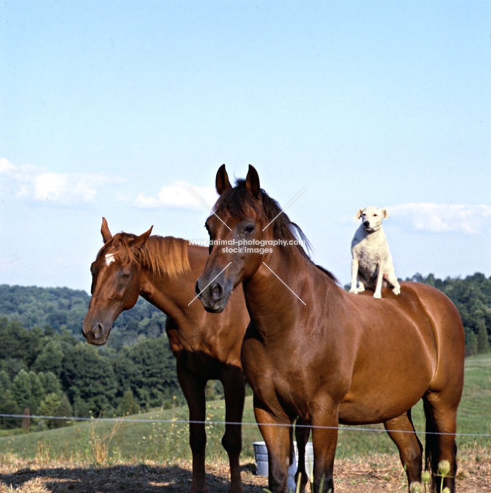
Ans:
<svg viewBox="0 0 491 493"><path fill-rule="evenodd" d="M312 251L312 245L302 228L290 220L278 202L272 199L262 188L260 190L260 199L260 201L255 200L246 188L246 180L238 178L235 180L234 188L230 188L220 195L213 210L218 216L220 213L226 212L233 217L245 219L255 213L255 215L262 215L267 221L266 224L273 221L271 227L273 228L275 240L286 242L284 248L296 248L309 262L339 284L334 274L312 261L309 255L309 252ZM289 245L291 240L302 241L307 250L302 245Z"/></svg>

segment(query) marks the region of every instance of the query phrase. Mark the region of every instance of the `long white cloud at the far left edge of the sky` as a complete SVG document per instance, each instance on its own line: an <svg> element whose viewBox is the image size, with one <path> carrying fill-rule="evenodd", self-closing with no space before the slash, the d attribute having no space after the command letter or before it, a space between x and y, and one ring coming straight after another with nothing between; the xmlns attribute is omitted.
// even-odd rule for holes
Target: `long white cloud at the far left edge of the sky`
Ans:
<svg viewBox="0 0 491 493"><path fill-rule="evenodd" d="M52 173L32 165L15 166L5 158L0 159L0 176L17 199L60 204L94 202L102 187L126 181L99 173Z"/></svg>

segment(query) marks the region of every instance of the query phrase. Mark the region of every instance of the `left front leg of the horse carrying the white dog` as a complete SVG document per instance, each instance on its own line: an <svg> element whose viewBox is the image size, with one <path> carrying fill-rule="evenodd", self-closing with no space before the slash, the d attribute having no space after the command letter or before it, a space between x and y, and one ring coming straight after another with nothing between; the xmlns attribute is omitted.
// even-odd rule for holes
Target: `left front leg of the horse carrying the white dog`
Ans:
<svg viewBox="0 0 491 493"><path fill-rule="evenodd" d="M254 394L254 415L268 449L268 490L286 493L290 465L290 422L274 416Z"/></svg>

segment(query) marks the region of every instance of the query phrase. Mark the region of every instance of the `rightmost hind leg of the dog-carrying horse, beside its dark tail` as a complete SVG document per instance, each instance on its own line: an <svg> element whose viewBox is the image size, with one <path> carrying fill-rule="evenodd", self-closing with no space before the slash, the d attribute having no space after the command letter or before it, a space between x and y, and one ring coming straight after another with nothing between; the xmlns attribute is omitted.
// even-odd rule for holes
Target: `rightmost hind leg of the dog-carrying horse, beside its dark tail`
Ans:
<svg viewBox="0 0 491 493"><path fill-rule="evenodd" d="M433 488L439 489L441 478L438 474L438 463L448 460L450 471L443 480L443 487L455 492L455 476L457 472L457 445L455 442L457 402L450 392L428 392L423 397L424 415L426 417L425 464L433 473Z"/></svg>

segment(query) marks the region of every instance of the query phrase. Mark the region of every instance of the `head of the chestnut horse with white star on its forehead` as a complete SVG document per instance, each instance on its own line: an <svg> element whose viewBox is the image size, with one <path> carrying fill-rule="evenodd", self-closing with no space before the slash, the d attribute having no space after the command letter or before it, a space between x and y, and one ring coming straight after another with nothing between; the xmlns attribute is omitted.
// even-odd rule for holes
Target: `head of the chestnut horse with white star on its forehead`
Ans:
<svg viewBox="0 0 491 493"><path fill-rule="evenodd" d="M140 236L117 233L112 236L103 217L104 246L92 263L92 298L82 322L87 342L105 344L119 314L135 306L140 294L139 252L152 228Z"/></svg>

